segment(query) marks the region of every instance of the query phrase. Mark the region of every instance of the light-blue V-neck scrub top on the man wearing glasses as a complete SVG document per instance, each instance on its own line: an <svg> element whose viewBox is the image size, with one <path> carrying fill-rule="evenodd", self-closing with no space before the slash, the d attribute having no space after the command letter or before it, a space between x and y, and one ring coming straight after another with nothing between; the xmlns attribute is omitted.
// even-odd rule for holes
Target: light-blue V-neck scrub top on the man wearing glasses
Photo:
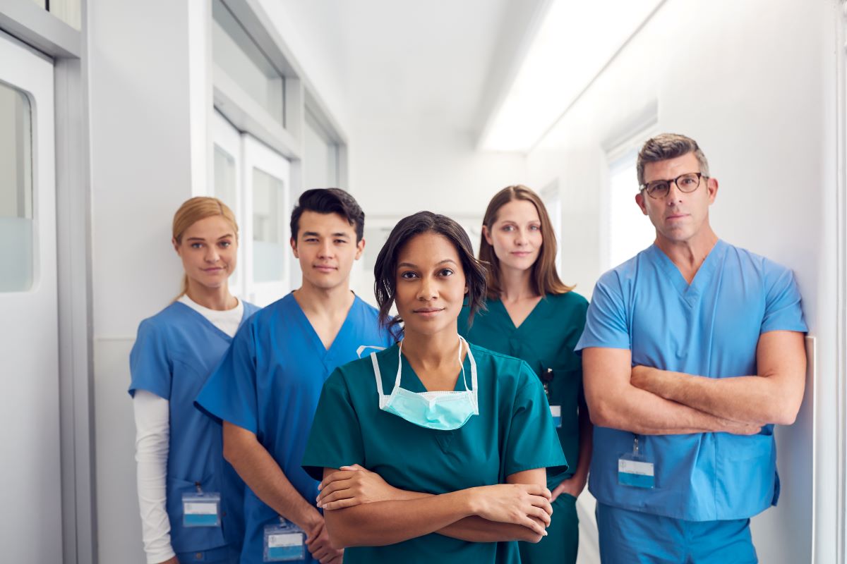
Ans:
<svg viewBox="0 0 847 564"><path fill-rule="evenodd" d="M792 272L721 240L690 286L656 245L597 282L577 350L628 348L633 365L710 378L755 375L767 331L807 331ZM639 435L653 490L617 484L634 435L595 427L589 488L597 501L689 521L752 517L779 496L773 425L753 436Z"/></svg>

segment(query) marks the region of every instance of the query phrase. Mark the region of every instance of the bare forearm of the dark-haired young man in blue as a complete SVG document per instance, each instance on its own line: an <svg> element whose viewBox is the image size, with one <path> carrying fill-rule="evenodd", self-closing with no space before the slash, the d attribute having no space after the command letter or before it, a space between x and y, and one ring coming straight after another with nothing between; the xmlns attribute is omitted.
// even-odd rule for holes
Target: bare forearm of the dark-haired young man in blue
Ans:
<svg viewBox="0 0 847 564"><path fill-rule="evenodd" d="M230 427L228 432L228 426ZM256 496L275 512L304 530L311 530L322 517L303 499L285 473L255 436L224 422L224 458Z"/></svg>

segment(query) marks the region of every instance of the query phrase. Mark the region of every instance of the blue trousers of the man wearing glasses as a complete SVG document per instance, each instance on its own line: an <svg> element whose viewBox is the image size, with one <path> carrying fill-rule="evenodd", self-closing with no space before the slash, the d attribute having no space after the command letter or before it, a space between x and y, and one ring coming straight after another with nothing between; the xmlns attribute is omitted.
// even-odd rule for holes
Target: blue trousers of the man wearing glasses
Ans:
<svg viewBox="0 0 847 564"><path fill-rule="evenodd" d="M756 564L750 519L684 521L597 504L603 564Z"/></svg>

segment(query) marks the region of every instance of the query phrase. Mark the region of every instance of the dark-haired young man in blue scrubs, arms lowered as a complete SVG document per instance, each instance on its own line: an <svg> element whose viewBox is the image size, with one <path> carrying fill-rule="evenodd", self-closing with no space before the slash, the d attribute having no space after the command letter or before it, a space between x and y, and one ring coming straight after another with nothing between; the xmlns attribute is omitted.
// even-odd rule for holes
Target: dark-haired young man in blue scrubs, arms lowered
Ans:
<svg viewBox="0 0 847 564"><path fill-rule="evenodd" d="M306 561L336 563L315 499L318 481L301 468L321 388L361 346L389 347L378 312L350 291L363 252L364 213L340 189L304 192L291 214L291 249L302 285L253 315L209 378L197 403L224 421L224 457L249 490L242 563L261 562L265 528L285 517L306 533Z"/></svg>

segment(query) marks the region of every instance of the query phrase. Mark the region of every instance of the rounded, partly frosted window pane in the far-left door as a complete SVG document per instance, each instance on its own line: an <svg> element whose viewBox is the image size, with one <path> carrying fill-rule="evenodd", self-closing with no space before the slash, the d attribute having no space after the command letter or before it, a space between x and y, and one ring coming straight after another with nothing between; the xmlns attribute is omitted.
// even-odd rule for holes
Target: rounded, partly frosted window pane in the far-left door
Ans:
<svg viewBox="0 0 847 564"><path fill-rule="evenodd" d="M0 292L32 287L32 130L30 101L0 83Z"/></svg>

